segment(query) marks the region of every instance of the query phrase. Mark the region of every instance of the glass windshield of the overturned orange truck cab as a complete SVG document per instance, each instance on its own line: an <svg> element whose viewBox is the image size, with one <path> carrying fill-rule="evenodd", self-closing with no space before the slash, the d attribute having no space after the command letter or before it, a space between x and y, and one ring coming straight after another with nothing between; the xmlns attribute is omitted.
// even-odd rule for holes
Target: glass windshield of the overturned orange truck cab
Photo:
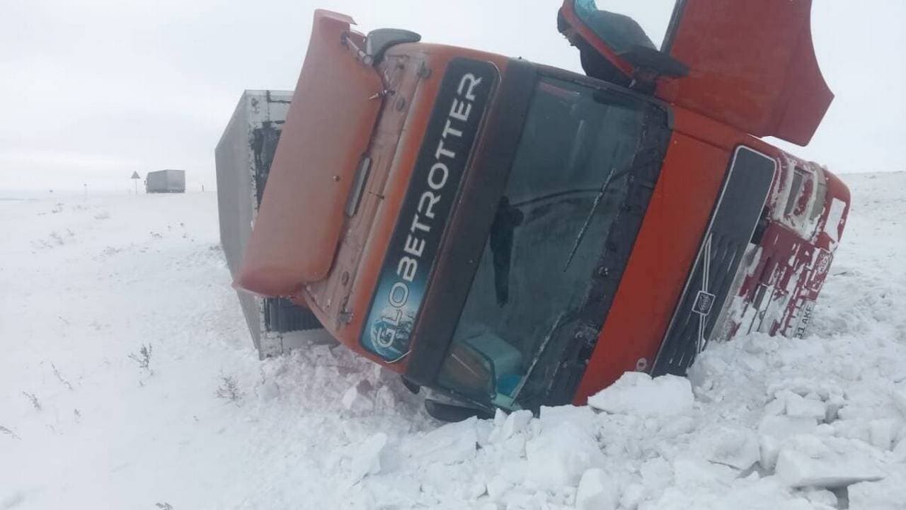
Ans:
<svg viewBox="0 0 906 510"><path fill-rule="evenodd" d="M564 349L557 330L587 299L630 189L648 111L622 93L539 80L441 387L507 408L544 391Z"/></svg>

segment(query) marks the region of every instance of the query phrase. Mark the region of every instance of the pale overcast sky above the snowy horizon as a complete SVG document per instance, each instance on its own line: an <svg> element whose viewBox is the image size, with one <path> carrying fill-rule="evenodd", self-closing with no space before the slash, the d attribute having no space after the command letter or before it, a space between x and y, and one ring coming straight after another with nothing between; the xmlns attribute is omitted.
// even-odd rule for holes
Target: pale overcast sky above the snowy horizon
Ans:
<svg viewBox="0 0 906 510"><path fill-rule="evenodd" d="M795 0L794 0L795 1ZM661 1L637 5L661 5ZM580 71L557 0L0 0L0 191L126 191L137 171L214 184L214 147L244 89L292 89L313 10ZM604 5L604 0L599 0ZM811 145L834 172L904 170L906 2L815 0L836 94Z"/></svg>

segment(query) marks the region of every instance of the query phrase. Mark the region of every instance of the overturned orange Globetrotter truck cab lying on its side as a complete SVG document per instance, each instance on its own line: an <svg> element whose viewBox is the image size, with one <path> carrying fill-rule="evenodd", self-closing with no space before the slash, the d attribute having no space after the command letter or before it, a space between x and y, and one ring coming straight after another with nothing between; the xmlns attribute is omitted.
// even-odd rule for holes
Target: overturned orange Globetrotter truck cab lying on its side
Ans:
<svg viewBox="0 0 906 510"><path fill-rule="evenodd" d="M807 144L833 99L810 11L679 1L658 48L565 0L586 75L316 11L236 287L292 301L448 419L801 337L849 191L760 137Z"/></svg>

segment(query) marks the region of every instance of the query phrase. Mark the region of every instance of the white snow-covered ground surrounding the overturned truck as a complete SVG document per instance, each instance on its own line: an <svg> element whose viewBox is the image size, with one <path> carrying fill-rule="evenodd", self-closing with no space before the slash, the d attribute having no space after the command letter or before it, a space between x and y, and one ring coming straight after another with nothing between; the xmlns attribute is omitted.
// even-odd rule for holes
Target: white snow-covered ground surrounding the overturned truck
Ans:
<svg viewBox="0 0 906 510"><path fill-rule="evenodd" d="M258 360L214 193L0 201L0 510L906 508L906 173L844 180L808 338L446 426L342 347Z"/></svg>

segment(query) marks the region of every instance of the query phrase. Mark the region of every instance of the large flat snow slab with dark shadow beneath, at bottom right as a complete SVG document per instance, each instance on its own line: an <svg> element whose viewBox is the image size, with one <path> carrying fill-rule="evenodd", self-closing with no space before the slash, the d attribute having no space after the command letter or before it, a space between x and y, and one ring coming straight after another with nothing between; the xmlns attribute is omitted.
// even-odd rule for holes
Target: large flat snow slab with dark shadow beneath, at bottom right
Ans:
<svg viewBox="0 0 906 510"><path fill-rule="evenodd" d="M795 436L777 456L776 475L790 487L842 487L883 478L877 463L852 440Z"/></svg>

